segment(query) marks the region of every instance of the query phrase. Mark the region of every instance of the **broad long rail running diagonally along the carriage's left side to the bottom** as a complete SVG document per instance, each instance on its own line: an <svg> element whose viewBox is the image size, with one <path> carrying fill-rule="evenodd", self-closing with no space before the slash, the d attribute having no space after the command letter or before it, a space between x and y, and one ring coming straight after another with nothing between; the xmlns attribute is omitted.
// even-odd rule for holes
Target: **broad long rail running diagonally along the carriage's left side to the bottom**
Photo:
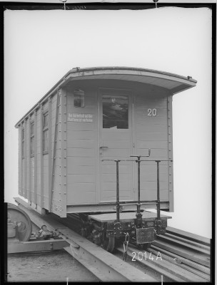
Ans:
<svg viewBox="0 0 217 285"><path fill-rule="evenodd" d="M63 227L63 224L57 222L51 215L41 216L22 199L14 199L38 227L46 224L47 229L59 232L61 237L69 243L69 247L64 247L66 252L69 252L101 281L156 281L151 276L143 273L143 271L133 268L124 261L120 261L118 257L106 252L68 227Z"/></svg>

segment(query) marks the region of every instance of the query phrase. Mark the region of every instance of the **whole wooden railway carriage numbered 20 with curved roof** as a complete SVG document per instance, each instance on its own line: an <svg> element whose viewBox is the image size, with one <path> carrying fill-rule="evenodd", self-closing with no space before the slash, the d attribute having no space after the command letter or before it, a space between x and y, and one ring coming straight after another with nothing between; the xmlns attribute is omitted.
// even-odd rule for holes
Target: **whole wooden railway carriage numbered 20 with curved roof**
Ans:
<svg viewBox="0 0 217 285"><path fill-rule="evenodd" d="M193 86L189 76L142 68L71 69L16 124L19 195L41 213L80 213L98 244L105 229L107 238L126 234L123 224L113 229L121 219L134 234L154 230L159 217L144 209L173 212L172 96Z"/></svg>

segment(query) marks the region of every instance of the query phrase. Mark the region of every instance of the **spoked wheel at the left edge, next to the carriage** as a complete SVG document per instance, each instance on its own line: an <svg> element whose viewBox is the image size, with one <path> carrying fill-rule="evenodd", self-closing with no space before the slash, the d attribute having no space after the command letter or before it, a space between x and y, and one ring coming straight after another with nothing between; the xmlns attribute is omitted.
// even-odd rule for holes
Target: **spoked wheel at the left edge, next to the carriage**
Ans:
<svg viewBox="0 0 217 285"><path fill-rule="evenodd" d="M22 242L29 241L32 232L31 219L28 214L14 204L8 203L8 222L16 224L17 238Z"/></svg>

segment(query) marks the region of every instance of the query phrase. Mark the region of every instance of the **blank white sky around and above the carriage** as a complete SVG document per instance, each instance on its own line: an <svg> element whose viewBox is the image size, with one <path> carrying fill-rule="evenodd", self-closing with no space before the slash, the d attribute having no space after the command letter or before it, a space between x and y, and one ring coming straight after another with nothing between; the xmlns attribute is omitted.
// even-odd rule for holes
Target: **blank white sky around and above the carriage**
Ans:
<svg viewBox="0 0 217 285"><path fill-rule="evenodd" d="M4 199L18 197L14 125L71 68L128 66L192 76L173 96L174 212L211 238L211 10L4 12Z"/></svg>

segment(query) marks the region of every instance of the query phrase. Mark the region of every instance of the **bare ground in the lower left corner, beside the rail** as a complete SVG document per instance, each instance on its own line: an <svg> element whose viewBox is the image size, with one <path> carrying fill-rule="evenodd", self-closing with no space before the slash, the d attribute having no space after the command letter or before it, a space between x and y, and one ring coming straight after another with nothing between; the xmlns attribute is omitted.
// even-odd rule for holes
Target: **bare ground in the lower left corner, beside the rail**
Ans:
<svg viewBox="0 0 217 285"><path fill-rule="evenodd" d="M37 254L9 254L8 281L99 281L64 250Z"/></svg>

